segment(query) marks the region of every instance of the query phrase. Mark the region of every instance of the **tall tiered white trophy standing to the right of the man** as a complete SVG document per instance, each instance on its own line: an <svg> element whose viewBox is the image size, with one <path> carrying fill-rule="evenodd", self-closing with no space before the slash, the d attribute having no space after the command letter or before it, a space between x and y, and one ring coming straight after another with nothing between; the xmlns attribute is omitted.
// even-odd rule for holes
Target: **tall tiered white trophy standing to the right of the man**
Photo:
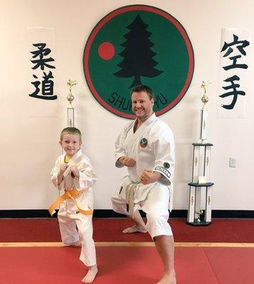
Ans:
<svg viewBox="0 0 254 284"><path fill-rule="evenodd" d="M208 110L205 105L206 84L201 85L205 94L202 97L200 136L201 143L192 143L193 166L192 181L189 182L189 207L187 224L191 226L207 226L211 224L213 182L210 181L211 147L212 143L206 143L206 121Z"/></svg>

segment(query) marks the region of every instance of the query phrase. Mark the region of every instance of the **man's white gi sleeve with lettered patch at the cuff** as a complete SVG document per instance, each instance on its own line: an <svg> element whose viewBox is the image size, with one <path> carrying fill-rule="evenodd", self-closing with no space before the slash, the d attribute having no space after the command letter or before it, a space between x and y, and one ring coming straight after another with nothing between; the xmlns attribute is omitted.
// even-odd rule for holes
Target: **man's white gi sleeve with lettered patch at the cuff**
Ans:
<svg viewBox="0 0 254 284"><path fill-rule="evenodd" d="M174 174L174 135L170 129L161 129L152 137L155 155L154 171L161 173L159 180L164 185L171 185Z"/></svg>

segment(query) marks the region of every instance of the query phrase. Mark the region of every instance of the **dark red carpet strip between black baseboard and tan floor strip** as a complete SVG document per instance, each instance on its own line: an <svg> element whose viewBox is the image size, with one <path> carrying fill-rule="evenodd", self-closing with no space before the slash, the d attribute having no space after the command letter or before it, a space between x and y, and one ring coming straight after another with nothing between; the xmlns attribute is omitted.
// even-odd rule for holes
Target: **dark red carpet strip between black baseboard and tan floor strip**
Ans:
<svg viewBox="0 0 254 284"><path fill-rule="evenodd" d="M175 241L254 243L254 219L212 219L210 226L189 226L186 219L169 219ZM149 234L122 234L130 219L93 219L95 241L152 241ZM223 234L222 234L223 232ZM0 219L0 242L60 241L58 221ZM254 283L254 280L253 280Z"/></svg>

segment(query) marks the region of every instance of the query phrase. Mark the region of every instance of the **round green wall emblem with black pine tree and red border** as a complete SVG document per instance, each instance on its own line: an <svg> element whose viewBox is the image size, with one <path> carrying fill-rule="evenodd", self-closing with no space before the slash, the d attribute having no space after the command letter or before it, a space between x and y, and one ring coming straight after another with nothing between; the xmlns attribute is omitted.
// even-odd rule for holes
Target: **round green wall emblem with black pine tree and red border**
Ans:
<svg viewBox="0 0 254 284"><path fill-rule="evenodd" d="M93 28L83 65L88 87L102 107L134 119L130 91L147 84L157 116L184 97L194 72L194 52L184 27L165 11L124 6Z"/></svg>

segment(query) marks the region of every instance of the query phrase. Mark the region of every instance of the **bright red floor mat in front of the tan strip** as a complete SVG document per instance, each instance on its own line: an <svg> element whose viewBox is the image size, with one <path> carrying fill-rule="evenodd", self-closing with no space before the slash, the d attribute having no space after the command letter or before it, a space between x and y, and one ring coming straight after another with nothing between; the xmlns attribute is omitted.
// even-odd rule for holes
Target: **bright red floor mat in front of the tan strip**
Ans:
<svg viewBox="0 0 254 284"><path fill-rule="evenodd" d="M1 284L75 284L85 274L80 249L0 248ZM176 247L177 284L253 284L254 248ZM154 247L97 247L94 284L154 284L162 263Z"/></svg>

